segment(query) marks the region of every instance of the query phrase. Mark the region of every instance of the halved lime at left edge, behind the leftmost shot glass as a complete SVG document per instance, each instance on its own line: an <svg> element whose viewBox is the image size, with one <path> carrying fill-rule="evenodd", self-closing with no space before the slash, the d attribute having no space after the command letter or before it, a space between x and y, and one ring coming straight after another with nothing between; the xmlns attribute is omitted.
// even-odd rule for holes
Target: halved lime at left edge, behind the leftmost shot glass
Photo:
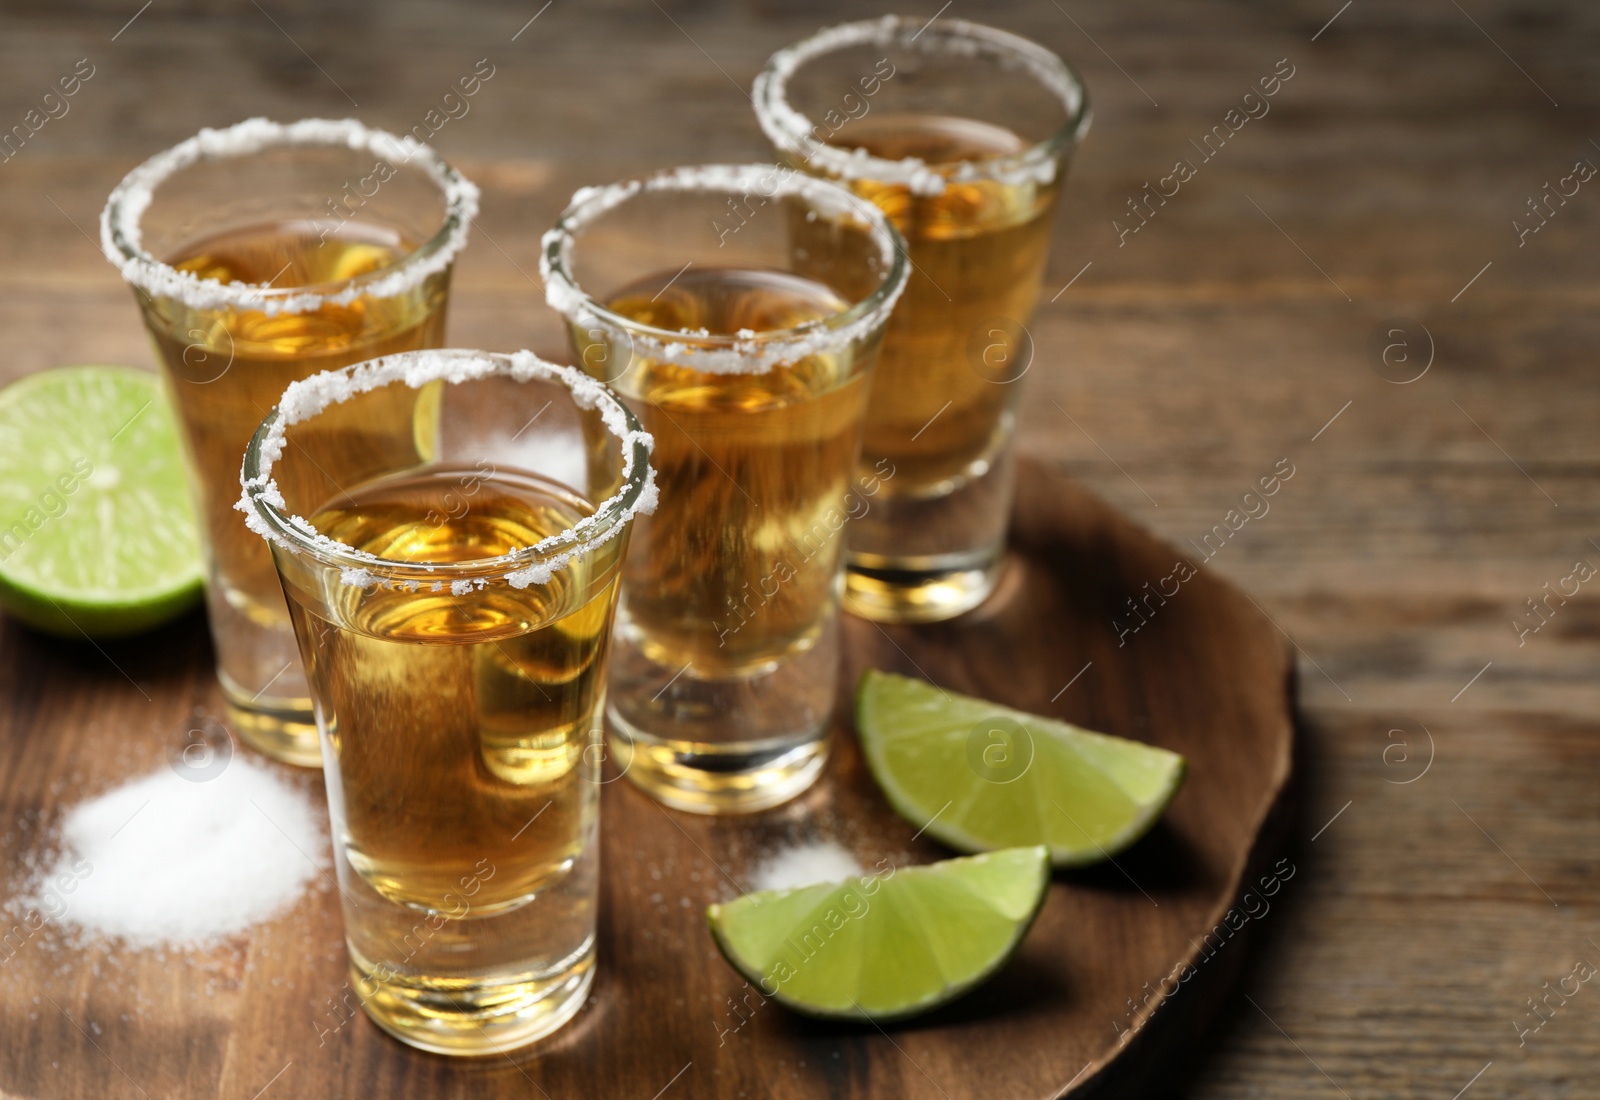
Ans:
<svg viewBox="0 0 1600 1100"><path fill-rule="evenodd" d="M64 366L0 390L0 606L69 638L131 635L189 609L200 574L154 374Z"/></svg>

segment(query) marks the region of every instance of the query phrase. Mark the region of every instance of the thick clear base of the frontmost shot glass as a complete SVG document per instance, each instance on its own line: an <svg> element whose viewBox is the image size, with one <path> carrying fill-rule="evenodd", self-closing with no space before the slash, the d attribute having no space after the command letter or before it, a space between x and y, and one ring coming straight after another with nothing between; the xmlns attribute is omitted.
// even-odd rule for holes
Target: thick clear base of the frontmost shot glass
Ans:
<svg viewBox="0 0 1600 1100"><path fill-rule="evenodd" d="M381 967L350 950L350 988L373 990L362 1007L402 1042L434 1054L482 1055L517 1050L578 1015L595 978L594 939L554 977L461 980L379 975Z"/></svg>

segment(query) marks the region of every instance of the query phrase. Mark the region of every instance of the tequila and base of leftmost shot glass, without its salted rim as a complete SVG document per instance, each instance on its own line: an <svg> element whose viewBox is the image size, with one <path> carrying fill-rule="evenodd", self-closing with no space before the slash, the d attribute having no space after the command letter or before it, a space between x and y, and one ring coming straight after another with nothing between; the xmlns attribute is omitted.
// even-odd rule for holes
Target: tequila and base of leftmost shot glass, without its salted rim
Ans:
<svg viewBox="0 0 1600 1100"><path fill-rule="evenodd" d="M221 283L326 288L392 267L414 248L416 241L360 221L333 230L280 221L194 241L166 262ZM234 508L240 456L290 382L392 352L437 347L446 286L448 275L440 275L395 297L362 296L347 305L277 315L146 299L146 323L178 412L203 521L213 635L232 716L246 739L282 759L315 764L315 729L309 713L298 723L274 716L309 711L309 702L272 556ZM397 387L389 400L419 398ZM426 435L381 435L336 406L318 422L315 440L302 444L314 456L299 464L302 484L285 488L299 499L323 499L338 488L323 470L346 476L414 460Z"/></svg>

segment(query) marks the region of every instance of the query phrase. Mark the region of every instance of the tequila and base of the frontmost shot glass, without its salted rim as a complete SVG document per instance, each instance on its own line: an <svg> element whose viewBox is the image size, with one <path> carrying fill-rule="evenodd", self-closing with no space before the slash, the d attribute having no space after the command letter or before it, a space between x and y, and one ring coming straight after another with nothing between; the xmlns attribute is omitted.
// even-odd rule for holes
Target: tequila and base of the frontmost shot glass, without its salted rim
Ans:
<svg viewBox="0 0 1600 1100"><path fill-rule="evenodd" d="M378 478L310 523L389 561L459 566L594 512L552 481L485 465ZM464 592L362 588L285 564L338 791L355 993L410 1042L515 1046L485 1025L542 1033L560 1020L491 1022L518 1001L568 1004L560 991L589 980L619 558L621 547L547 584Z"/></svg>

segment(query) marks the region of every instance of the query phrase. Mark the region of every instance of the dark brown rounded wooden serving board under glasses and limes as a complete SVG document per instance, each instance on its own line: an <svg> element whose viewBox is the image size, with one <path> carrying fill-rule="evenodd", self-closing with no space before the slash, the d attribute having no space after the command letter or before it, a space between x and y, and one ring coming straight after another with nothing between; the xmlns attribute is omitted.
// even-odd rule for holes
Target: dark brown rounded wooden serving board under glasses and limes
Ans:
<svg viewBox="0 0 1600 1100"><path fill-rule="evenodd" d="M1291 662L1264 612L1203 568L1165 604L1150 598L1136 632L1118 632L1117 622L1139 622L1130 596L1173 590L1163 579L1184 553L1053 468L1024 462L1019 481L995 600L942 625L848 620L837 751L808 795L755 817L704 819L666 811L626 780L608 785L595 993L546 1044L450 1060L400 1046L365 1017L341 1023L330 1002L346 980L338 895L323 889L198 956L70 948L51 926L0 953L10 955L0 1097L1142 1095L1192 1049L1243 961L1250 923L1235 903L1250 891L1259 916L1293 875L1277 847ZM856 751L848 702L867 667L1190 761L1149 838L1115 865L1056 876L1000 975L888 1031L763 1004L704 921L709 902L738 892L784 844L837 839L869 867L947 855L888 809ZM24 876L66 806L160 767L197 708L221 710L197 619L101 648L8 624L0 700L6 883ZM320 795L318 777L298 775Z"/></svg>

